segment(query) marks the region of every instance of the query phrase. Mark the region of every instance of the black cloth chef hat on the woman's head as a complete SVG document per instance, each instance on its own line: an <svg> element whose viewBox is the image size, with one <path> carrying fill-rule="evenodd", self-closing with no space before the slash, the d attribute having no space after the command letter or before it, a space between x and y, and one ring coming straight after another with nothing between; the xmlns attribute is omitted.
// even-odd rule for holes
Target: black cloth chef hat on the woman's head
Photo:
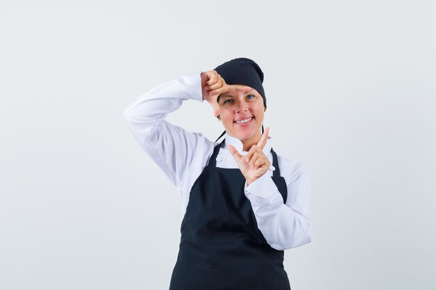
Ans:
<svg viewBox="0 0 436 290"><path fill-rule="evenodd" d="M265 90L263 90L263 72L257 63L249 58L233 58L215 67L218 74L228 85L241 84L255 88L263 98L263 106L267 107Z"/></svg>

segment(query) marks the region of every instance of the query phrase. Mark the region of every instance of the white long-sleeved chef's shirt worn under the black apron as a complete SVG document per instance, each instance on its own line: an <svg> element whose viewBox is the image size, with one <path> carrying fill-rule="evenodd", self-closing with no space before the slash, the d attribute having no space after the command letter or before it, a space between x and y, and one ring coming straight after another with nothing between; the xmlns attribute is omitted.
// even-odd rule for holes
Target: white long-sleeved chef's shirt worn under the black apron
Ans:
<svg viewBox="0 0 436 290"><path fill-rule="evenodd" d="M185 216L192 185L208 164L218 143L208 140L201 133L188 132L164 119L187 99L203 102L201 72L179 76L148 90L124 111L125 120L134 138L177 186L180 222ZM225 148L219 150L217 167L238 168L227 145L235 146L242 155L247 152L242 151L242 143L237 138L228 134L224 138ZM271 147L272 139L268 139L263 152L272 163ZM267 243L277 250L286 250L311 241L311 180L309 168L301 161L286 159L278 153L277 159L281 176L288 187L286 204L271 179L273 166L249 186L246 182L244 193L251 202L258 227Z"/></svg>

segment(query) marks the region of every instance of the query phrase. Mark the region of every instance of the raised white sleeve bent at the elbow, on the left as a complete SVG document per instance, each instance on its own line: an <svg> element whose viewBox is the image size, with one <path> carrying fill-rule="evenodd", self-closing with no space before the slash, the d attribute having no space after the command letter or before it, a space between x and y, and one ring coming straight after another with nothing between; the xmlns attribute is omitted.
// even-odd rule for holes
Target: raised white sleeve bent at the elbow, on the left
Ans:
<svg viewBox="0 0 436 290"><path fill-rule="evenodd" d="M199 147L205 144L203 134L190 133L164 120L187 99L203 102L201 71L156 86L124 111L134 138L176 186L189 171Z"/></svg>

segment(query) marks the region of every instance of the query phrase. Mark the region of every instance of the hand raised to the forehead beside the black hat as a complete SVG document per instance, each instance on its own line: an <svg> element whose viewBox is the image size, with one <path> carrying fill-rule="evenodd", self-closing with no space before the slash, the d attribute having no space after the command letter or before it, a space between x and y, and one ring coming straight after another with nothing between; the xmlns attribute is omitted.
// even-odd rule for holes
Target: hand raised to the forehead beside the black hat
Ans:
<svg viewBox="0 0 436 290"><path fill-rule="evenodd" d="M203 99L212 106L215 117L219 115L219 106L217 98L223 92L227 92L226 81L218 74L216 70L201 72L201 93Z"/></svg>

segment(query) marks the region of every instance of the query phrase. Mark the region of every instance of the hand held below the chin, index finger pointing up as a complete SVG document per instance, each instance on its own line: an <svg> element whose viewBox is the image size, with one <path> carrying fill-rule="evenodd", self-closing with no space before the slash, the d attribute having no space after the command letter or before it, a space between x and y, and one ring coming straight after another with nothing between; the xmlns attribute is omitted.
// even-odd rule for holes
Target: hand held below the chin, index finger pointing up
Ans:
<svg viewBox="0 0 436 290"><path fill-rule="evenodd" d="M235 158L236 163L238 163L242 175L244 175L245 180L247 180L247 185L250 185L251 182L254 182L256 179L264 175L271 166L270 160L262 151L267 143L269 132L270 128L268 127L263 132L257 145L251 146L248 154L245 156L241 155L232 145L228 145L228 150Z"/></svg>

